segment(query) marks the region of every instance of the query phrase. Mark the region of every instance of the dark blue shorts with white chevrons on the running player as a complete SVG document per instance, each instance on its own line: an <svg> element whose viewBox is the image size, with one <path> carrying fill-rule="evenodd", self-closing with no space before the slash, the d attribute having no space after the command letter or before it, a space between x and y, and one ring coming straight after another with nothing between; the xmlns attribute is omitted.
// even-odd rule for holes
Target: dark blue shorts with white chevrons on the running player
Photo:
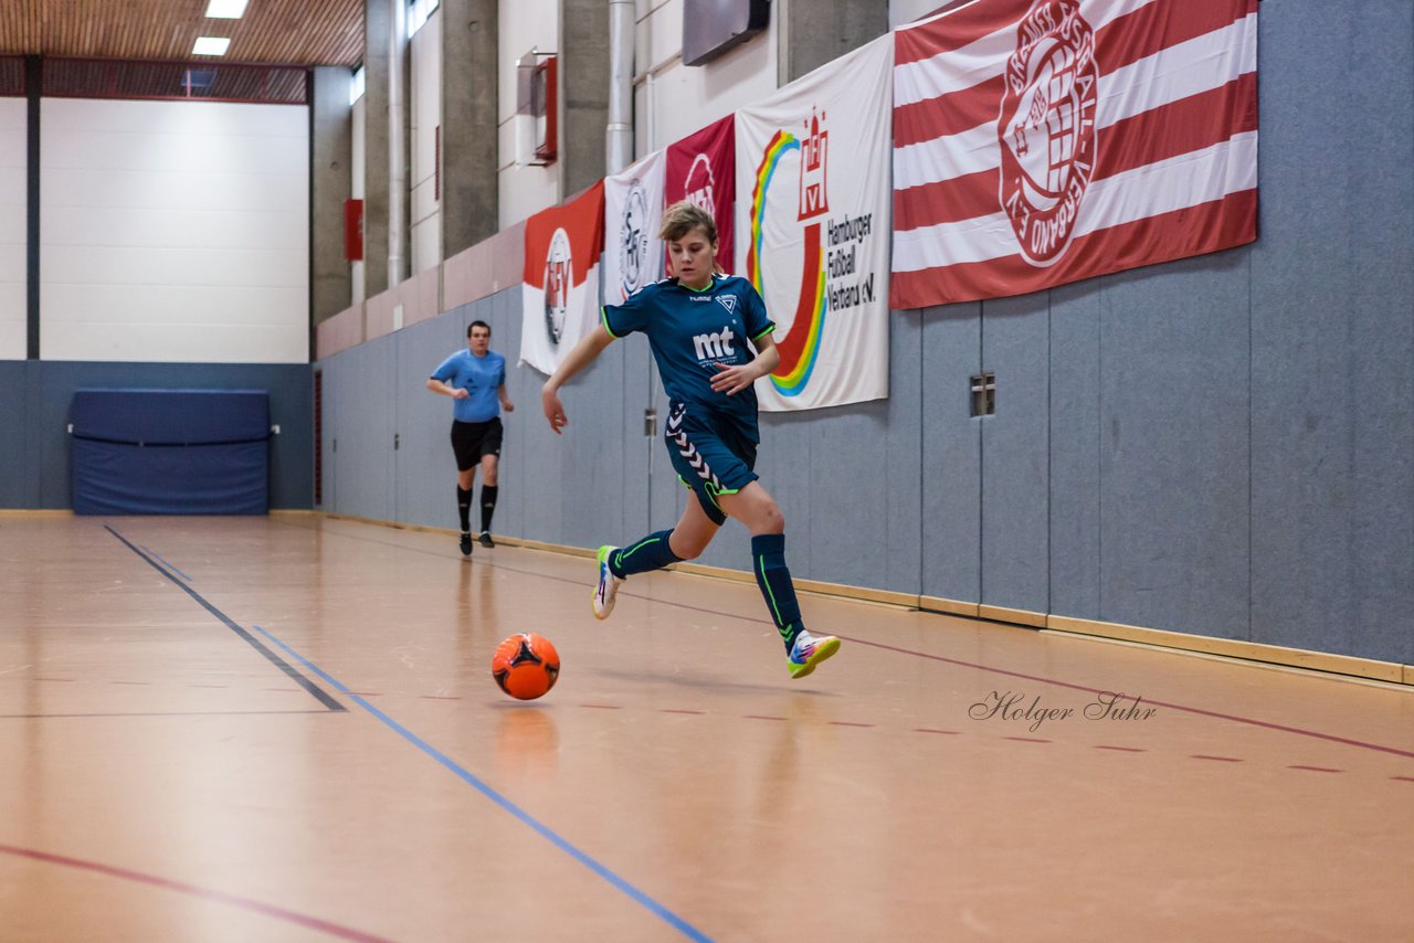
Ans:
<svg viewBox="0 0 1414 943"><path fill-rule="evenodd" d="M714 523L727 523L717 495L735 495L759 478L752 471L755 438L724 417L694 414L684 403L669 406L663 437L677 476L697 495L697 503Z"/></svg>

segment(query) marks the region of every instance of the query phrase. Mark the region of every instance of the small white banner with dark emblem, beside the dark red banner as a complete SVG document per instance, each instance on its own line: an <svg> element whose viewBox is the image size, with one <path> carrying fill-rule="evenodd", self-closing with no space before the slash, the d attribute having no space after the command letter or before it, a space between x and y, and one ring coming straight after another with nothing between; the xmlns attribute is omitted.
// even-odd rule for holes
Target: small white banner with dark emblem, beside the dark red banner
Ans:
<svg viewBox="0 0 1414 943"><path fill-rule="evenodd" d="M604 178L604 304L663 277L663 151Z"/></svg>

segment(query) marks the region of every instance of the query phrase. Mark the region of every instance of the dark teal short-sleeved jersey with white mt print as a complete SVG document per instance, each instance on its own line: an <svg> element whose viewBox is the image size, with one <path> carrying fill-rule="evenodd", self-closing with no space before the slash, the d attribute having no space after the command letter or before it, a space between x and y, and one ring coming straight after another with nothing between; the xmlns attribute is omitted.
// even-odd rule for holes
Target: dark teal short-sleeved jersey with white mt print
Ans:
<svg viewBox="0 0 1414 943"><path fill-rule="evenodd" d="M639 288L624 304L607 305L604 327L617 338L633 331L648 335L658 375L673 402L725 413L755 427L756 392L752 387L734 396L711 389L718 363L749 363L756 358L749 341L776 327L766 317L766 304L745 279L715 274L701 291L665 279Z"/></svg>

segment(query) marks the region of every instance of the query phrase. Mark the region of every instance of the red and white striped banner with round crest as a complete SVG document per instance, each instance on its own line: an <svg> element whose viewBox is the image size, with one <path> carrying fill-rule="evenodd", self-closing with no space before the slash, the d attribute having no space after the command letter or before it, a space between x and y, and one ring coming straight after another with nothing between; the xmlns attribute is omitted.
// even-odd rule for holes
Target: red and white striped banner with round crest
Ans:
<svg viewBox="0 0 1414 943"><path fill-rule="evenodd" d="M889 305L1257 238L1257 0L974 0L894 41Z"/></svg>

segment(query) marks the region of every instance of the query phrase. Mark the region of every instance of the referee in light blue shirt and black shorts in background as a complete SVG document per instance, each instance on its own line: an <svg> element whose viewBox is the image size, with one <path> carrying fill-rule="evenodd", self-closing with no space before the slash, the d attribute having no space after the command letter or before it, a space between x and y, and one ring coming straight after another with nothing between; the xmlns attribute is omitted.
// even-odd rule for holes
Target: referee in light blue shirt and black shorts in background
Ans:
<svg viewBox="0 0 1414 943"><path fill-rule="evenodd" d="M457 454L457 513L461 517L461 554L471 556L471 488L481 467L481 546L495 547L491 515L496 510L496 475L501 465L501 410L515 404L506 396L506 358L491 349L491 325L467 327L467 349L457 351L427 377L427 389L450 396L452 403L451 448Z"/></svg>

